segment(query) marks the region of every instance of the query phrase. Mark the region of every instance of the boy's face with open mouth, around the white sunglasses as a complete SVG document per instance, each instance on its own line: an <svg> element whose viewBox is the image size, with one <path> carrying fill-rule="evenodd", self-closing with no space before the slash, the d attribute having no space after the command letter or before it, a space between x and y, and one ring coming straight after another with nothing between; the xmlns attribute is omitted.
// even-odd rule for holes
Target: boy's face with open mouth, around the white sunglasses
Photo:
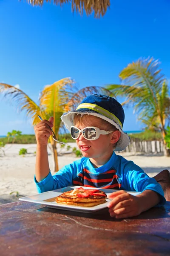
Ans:
<svg viewBox="0 0 170 256"><path fill-rule="evenodd" d="M107 125L102 124L102 119L96 118L95 116L87 116L88 122L75 122L74 126L82 130L85 127L95 126L100 130L108 131ZM90 124L89 125L89 121ZM120 133L119 131L114 131L113 133ZM112 134L100 135L97 140L86 140L85 137L80 134L79 138L76 140L78 148L81 150L83 157L88 158L105 158L113 153L113 144L117 141L113 141ZM111 139L112 138L112 139Z"/></svg>

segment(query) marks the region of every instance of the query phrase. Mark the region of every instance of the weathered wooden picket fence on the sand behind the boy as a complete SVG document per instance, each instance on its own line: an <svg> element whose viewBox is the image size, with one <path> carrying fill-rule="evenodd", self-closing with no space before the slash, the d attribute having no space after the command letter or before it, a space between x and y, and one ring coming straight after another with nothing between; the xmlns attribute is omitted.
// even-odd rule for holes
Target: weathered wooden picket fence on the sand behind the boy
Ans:
<svg viewBox="0 0 170 256"><path fill-rule="evenodd" d="M144 152L144 153L160 153L164 152L163 142L159 140L131 139L124 152Z"/></svg>

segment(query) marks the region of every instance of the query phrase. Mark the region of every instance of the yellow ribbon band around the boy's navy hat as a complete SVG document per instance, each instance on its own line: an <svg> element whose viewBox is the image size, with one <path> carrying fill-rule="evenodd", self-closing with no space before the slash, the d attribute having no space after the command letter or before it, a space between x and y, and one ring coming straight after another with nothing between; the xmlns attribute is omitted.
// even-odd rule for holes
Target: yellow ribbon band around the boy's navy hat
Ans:
<svg viewBox="0 0 170 256"><path fill-rule="evenodd" d="M120 125L120 127L122 128L123 125L122 123L120 122L120 120L111 112L109 112L108 110L106 110L105 108L102 108L102 107L99 107L98 105L96 104L91 104L91 103L82 103L80 104L76 110L80 109L80 108L88 108L88 109L91 109L91 110L94 110L100 114L102 114L103 116L105 117L108 117L110 119L113 119L113 121L115 121L117 124Z"/></svg>

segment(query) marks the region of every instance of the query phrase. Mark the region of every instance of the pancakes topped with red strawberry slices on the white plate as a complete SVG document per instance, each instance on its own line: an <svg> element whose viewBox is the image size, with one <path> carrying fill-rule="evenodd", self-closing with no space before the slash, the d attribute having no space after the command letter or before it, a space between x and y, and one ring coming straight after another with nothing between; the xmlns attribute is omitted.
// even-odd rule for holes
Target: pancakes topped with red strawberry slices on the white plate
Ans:
<svg viewBox="0 0 170 256"><path fill-rule="evenodd" d="M93 207L106 202L107 195L99 189L83 189L82 187L62 193L56 198L58 204Z"/></svg>

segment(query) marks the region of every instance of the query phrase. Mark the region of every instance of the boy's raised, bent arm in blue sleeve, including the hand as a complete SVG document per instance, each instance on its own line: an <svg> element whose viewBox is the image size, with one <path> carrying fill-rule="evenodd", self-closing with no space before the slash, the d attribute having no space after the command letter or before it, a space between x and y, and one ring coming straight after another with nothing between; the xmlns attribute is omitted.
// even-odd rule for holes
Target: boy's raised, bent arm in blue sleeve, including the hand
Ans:
<svg viewBox="0 0 170 256"><path fill-rule="evenodd" d="M48 163L47 144L52 134L50 127L53 126L53 121L54 119L51 117L49 121L43 120L34 127L37 140L34 181L39 193L71 186L74 177L81 171L82 162L84 161L83 158L77 160L60 169L56 175L51 175Z"/></svg>

